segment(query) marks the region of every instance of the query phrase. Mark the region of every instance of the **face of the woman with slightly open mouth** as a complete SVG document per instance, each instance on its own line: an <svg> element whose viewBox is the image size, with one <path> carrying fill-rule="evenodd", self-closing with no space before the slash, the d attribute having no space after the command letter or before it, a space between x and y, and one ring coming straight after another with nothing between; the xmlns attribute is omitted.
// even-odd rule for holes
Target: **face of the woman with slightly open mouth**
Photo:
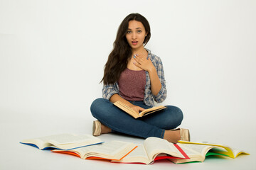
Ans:
<svg viewBox="0 0 256 170"><path fill-rule="evenodd" d="M126 38L133 50L139 50L139 48L144 47L143 42L145 37L146 30L142 22L135 20L129 21Z"/></svg>

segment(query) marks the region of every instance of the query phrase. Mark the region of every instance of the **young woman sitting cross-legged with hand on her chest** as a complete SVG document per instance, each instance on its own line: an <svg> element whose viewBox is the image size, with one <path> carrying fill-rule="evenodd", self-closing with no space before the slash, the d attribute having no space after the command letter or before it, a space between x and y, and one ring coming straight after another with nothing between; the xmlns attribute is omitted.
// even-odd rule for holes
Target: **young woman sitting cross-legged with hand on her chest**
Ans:
<svg viewBox="0 0 256 170"><path fill-rule="evenodd" d="M166 98L166 81L161 59L144 48L151 36L149 23L139 13L131 13L122 21L103 76L103 98L91 106L92 135L119 132L137 137L161 137L169 142L190 140L187 129L174 129L181 124L183 113L175 106L134 119L114 106L115 101L134 111L161 103Z"/></svg>

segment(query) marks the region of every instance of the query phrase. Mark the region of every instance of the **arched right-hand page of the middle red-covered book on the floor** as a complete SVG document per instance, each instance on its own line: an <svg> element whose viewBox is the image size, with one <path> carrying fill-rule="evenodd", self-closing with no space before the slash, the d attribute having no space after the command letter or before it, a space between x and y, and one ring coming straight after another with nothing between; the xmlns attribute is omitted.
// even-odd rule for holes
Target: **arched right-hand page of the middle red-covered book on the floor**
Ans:
<svg viewBox="0 0 256 170"><path fill-rule="evenodd" d="M173 143L158 137L148 137L144 141L144 147L149 156L149 159L154 160L160 153L170 154L174 157L184 158L183 154L178 151Z"/></svg>

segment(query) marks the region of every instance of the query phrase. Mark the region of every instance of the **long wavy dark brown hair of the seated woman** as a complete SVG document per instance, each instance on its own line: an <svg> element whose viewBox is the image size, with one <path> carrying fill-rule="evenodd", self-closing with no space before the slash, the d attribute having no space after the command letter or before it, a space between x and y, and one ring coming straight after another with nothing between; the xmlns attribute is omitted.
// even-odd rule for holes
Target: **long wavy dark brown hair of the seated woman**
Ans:
<svg viewBox="0 0 256 170"><path fill-rule="evenodd" d="M104 84L114 84L119 80L121 73L127 68L129 59L132 57L132 48L129 46L126 38L129 21L139 21L143 24L146 30L146 38L144 39L144 45L149 42L151 33L149 22L144 16L139 13L129 14L117 30L117 38L114 41L114 48L108 57L107 63L105 64L104 76L100 82Z"/></svg>

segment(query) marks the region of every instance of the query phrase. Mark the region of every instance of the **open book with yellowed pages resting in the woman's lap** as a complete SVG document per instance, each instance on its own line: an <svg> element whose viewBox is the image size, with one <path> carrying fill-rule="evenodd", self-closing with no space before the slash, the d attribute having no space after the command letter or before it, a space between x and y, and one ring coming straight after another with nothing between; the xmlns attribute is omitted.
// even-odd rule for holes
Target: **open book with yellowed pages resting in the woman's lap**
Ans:
<svg viewBox="0 0 256 170"><path fill-rule="evenodd" d="M123 111L125 111L129 115L132 115L132 117L134 117L134 118L140 118L144 115L149 115L150 113L154 113L156 111L160 111L160 110L166 108L165 106L155 106L153 108L148 108L148 109L146 109L146 110L144 110L140 113L137 113L136 111L134 111L132 108L125 105L121 101L114 102L114 106L117 106L118 108L122 109Z"/></svg>

